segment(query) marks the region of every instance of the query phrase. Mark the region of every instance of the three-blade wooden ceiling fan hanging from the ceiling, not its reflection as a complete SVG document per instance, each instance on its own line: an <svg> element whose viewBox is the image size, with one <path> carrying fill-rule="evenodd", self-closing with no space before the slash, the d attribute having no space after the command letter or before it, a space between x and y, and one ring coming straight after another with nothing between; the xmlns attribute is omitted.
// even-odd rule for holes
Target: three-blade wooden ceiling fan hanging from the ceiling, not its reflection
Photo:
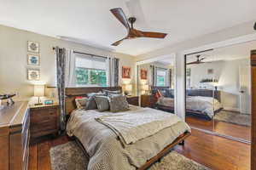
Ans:
<svg viewBox="0 0 256 170"><path fill-rule="evenodd" d="M129 22L131 23L131 26L130 26L122 8L112 8L112 9L110 9L110 11L125 26L126 30L128 31L127 36L117 42L113 42L113 44L112 44L113 46L118 46L125 39L134 39L134 38L138 38L138 37L165 38L167 35L165 33L160 33L160 32L149 32L149 31L136 30L133 27L133 24L136 21L135 17L130 17L128 19Z"/></svg>

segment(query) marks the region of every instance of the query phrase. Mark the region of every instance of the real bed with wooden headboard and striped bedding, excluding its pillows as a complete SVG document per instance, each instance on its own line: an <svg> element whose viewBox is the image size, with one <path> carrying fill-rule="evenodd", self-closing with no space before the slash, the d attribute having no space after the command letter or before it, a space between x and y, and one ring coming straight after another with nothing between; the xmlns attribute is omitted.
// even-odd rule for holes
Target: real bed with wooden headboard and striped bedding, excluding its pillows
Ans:
<svg viewBox="0 0 256 170"><path fill-rule="evenodd" d="M99 112L96 110L78 111L75 110L75 96L86 95L91 92L98 92L102 88L67 88L66 89L66 108L67 113L70 113L67 122L67 134L74 136L82 145L82 149L90 156L89 169L146 169L150 167L160 157L165 156L173 146L183 142L190 134L190 127L178 117L164 111L156 111L150 108L142 108L131 105L129 111L120 113L112 113L110 111ZM108 90L121 89L104 88ZM124 135L120 135L113 128L106 124L97 121L99 118L120 117L125 116L137 118L136 116L166 116L170 120L177 119L172 126L165 127L159 131L155 131L153 135L144 136L142 139L131 140L131 143L122 141ZM173 117L170 117L173 116ZM147 118L148 118L147 117ZM143 118L146 122L147 118ZM149 119L149 118L148 118ZM108 119L107 119L108 120ZM112 120L112 119L110 119ZM123 119L121 119L123 120ZM124 119L125 120L125 119ZM167 122L167 121L166 121ZM153 123L153 122L149 122ZM155 122L154 122L155 123ZM159 125L154 127L154 123L150 127L145 128L147 131L154 131ZM162 122L162 124L165 124ZM121 127L124 124L121 124ZM146 125L146 124L145 124ZM115 127L117 128L117 127ZM138 126L138 132L141 132ZM121 131L118 131L121 133ZM137 131L136 131L137 132ZM143 134L143 133L142 133ZM130 134L127 135L130 137ZM121 138L122 137L122 138ZM124 138L125 139L125 138ZM133 139L133 138L132 138ZM126 141L126 140L125 140Z"/></svg>

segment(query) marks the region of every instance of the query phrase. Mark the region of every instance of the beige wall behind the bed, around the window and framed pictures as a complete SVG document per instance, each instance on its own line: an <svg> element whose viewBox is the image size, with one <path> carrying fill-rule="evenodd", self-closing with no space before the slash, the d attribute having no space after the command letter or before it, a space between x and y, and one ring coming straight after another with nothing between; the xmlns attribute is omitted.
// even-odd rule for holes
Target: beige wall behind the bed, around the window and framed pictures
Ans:
<svg viewBox="0 0 256 170"><path fill-rule="evenodd" d="M41 80L46 84L55 83L55 54L52 47L71 48L79 52L90 54L99 54L104 56L114 56L120 59L119 62L119 80L121 80L122 65L131 66L131 83L134 85L135 62L134 58L126 54L114 54L100 48L93 48L75 42L67 42L54 37L46 37L30 31L21 31L15 28L0 25L0 94L18 93L16 99L28 99L33 95L32 82L26 78L27 65L26 50L27 41L36 41L40 43L41 65L38 66L41 71Z"/></svg>

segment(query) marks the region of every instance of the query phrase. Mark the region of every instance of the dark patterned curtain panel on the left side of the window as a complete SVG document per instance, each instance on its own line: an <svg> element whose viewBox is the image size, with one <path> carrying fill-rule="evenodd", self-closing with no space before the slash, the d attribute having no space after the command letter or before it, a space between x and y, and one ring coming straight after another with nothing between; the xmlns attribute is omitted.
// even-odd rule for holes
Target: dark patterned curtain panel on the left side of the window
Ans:
<svg viewBox="0 0 256 170"><path fill-rule="evenodd" d="M60 105L60 122L61 130L65 130L66 127L66 107L65 107L65 64L66 64L66 49L55 48L56 53L56 68L57 68L57 88L59 94Z"/></svg>

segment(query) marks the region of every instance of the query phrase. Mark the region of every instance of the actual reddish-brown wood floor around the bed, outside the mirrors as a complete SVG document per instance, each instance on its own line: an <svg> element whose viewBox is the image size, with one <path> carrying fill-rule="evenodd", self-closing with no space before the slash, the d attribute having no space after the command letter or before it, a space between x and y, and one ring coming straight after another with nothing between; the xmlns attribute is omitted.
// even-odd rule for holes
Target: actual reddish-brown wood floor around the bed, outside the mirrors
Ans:
<svg viewBox="0 0 256 170"><path fill-rule="evenodd" d="M50 170L49 149L68 142L67 136L57 139L44 139L30 146L29 170ZM186 139L184 146L175 150L212 170L249 170L250 145L230 139L212 136L197 130Z"/></svg>

